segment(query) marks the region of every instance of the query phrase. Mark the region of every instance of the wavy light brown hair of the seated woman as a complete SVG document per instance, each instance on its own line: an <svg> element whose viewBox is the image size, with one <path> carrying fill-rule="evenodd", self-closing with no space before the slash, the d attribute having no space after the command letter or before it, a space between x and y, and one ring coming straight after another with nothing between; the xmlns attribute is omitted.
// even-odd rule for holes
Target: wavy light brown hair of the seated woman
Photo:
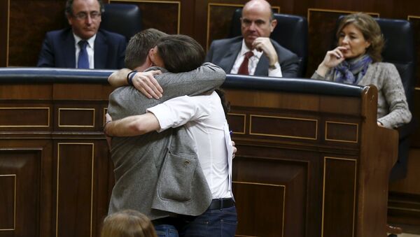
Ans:
<svg viewBox="0 0 420 237"><path fill-rule="evenodd" d="M336 36L339 38L340 32L348 24L353 24L363 34L366 41L370 42L366 53L372 58L373 62L381 62L381 52L384 48L384 36L381 33L381 27L370 15L366 13L353 13L342 17L339 21Z"/></svg>

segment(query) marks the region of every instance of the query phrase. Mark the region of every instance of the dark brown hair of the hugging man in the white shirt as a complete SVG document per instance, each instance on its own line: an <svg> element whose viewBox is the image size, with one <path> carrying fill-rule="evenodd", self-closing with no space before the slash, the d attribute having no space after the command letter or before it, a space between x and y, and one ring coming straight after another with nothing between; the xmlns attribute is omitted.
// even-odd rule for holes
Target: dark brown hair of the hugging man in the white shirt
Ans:
<svg viewBox="0 0 420 237"><path fill-rule="evenodd" d="M206 57L200 43L190 36L181 34L162 37L156 46L165 69L172 73L197 69L204 63Z"/></svg>

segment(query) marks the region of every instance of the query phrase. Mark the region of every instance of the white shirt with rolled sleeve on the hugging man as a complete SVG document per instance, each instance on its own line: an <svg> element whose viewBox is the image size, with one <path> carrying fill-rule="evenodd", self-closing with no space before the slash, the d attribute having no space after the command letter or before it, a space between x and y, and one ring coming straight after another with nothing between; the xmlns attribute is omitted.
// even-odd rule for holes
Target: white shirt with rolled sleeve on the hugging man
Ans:
<svg viewBox="0 0 420 237"><path fill-rule="evenodd" d="M232 142L216 92L201 96L180 96L148 108L158 118L160 131L185 124L193 136L195 150L213 199L232 195Z"/></svg>

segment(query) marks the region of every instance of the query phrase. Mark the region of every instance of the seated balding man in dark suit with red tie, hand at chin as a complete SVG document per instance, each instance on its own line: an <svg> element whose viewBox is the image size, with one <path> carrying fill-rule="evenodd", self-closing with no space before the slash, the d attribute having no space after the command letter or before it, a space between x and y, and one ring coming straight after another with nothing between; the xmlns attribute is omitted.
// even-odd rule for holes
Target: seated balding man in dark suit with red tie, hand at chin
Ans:
<svg viewBox="0 0 420 237"><path fill-rule="evenodd" d="M242 9L242 36L213 41L206 61L226 73L295 78L297 55L269 38L276 24L267 1L248 1Z"/></svg>

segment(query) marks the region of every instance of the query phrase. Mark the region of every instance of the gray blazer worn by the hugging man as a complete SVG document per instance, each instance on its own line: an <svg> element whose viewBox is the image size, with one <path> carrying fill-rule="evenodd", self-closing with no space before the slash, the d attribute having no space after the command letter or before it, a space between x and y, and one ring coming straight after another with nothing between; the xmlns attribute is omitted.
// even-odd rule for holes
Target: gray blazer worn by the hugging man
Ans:
<svg viewBox="0 0 420 237"><path fill-rule="evenodd" d="M197 95L223 84L225 72L203 64L188 73L156 76L162 99L147 99L134 87L119 87L109 96L113 120L146 113L146 108L182 95ZM194 150L193 138L184 127L141 136L114 137L111 157L116 184L109 213L139 210L151 220L172 213L200 215L211 203L209 185Z"/></svg>

